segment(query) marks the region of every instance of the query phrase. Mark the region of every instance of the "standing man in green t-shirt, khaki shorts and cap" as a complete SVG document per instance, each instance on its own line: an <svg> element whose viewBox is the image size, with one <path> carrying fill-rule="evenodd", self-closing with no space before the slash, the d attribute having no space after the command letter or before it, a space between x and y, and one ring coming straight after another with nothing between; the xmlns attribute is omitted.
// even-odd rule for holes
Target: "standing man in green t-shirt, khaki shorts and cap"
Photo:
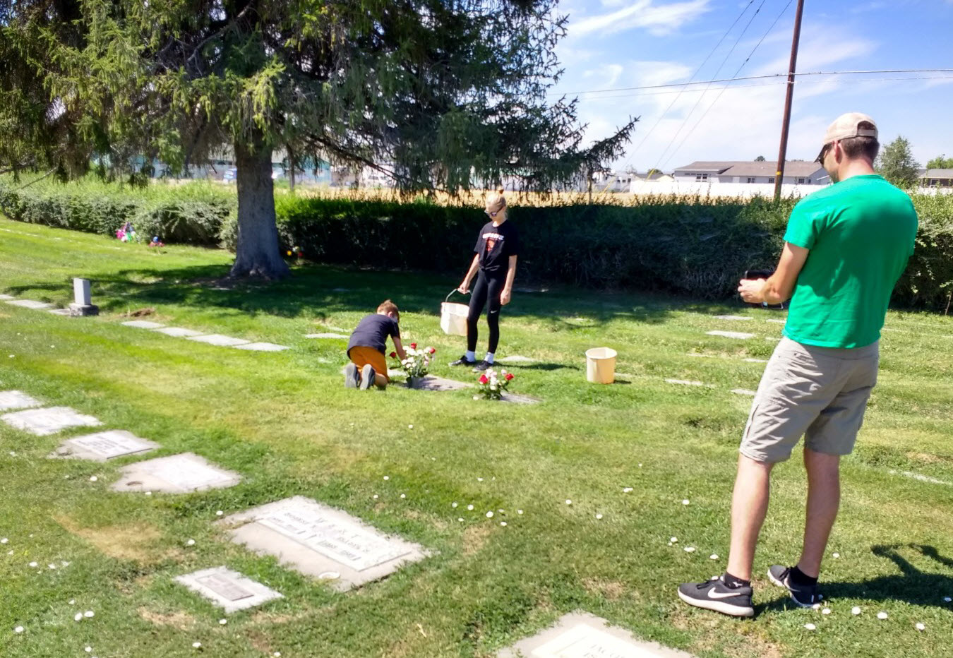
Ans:
<svg viewBox="0 0 953 658"><path fill-rule="evenodd" d="M854 447L877 382L883 318L917 234L910 197L874 173L880 144L872 118L841 115L822 144L817 161L834 184L794 207L775 273L742 279L738 288L748 302L791 302L741 440L728 566L719 578L679 586L686 603L735 616L754 615L751 569L771 468L791 456L801 436L801 559L771 566L768 577L799 606L821 600L821 558L841 501L841 455Z"/></svg>

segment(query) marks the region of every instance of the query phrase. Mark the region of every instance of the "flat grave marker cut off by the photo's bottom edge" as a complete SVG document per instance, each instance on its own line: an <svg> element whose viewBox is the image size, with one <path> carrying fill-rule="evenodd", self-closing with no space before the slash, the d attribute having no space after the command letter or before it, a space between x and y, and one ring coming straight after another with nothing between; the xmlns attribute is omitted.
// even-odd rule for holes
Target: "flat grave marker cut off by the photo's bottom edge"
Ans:
<svg viewBox="0 0 953 658"><path fill-rule="evenodd" d="M498 658L693 658L690 653L645 642L584 612L559 618L555 627L517 642Z"/></svg>

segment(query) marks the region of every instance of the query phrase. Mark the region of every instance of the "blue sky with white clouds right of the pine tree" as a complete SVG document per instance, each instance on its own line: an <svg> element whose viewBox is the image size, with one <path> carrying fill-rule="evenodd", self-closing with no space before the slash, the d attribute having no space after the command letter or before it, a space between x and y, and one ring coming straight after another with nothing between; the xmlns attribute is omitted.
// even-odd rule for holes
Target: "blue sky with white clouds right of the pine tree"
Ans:
<svg viewBox="0 0 953 658"><path fill-rule="evenodd" d="M629 115L640 117L618 169L775 159L786 77L680 94L678 87L625 88L786 75L796 6L797 0L563 0L559 12L569 23L558 56L565 72L553 91L578 95L589 139L611 134ZM953 69L951 34L953 0L805 0L798 71ZM946 79L883 79L921 76ZM610 91L579 94L592 90ZM922 165L953 156L953 72L924 72L799 78L788 159L813 159L827 125L855 111L876 119L882 144L906 137Z"/></svg>

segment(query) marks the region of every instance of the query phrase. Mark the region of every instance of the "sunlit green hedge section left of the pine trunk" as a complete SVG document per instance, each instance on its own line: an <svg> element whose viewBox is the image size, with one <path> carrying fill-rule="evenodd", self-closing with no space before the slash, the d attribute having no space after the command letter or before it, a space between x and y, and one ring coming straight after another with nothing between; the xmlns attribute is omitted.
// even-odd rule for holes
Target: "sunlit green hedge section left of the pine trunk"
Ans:
<svg viewBox="0 0 953 658"><path fill-rule="evenodd" d="M217 246L234 208L232 193L207 183L137 189L84 179L24 187L0 177L0 212L10 219L107 236L131 221L145 240Z"/></svg>

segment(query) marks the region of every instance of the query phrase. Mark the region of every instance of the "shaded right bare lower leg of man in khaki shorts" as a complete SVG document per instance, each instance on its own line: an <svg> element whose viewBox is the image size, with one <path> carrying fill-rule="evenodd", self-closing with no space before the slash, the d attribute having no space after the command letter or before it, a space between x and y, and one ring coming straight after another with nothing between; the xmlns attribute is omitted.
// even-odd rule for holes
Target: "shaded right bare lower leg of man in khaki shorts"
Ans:
<svg viewBox="0 0 953 658"><path fill-rule="evenodd" d="M798 568L805 576L817 578L841 505L841 456L804 448L804 468L807 470L807 514Z"/></svg>

